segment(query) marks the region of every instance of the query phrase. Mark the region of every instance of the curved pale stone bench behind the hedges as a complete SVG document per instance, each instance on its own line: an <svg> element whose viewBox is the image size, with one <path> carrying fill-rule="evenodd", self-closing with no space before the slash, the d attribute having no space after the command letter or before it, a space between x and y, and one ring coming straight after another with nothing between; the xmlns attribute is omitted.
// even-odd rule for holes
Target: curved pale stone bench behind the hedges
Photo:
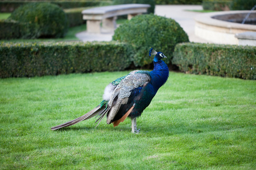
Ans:
<svg viewBox="0 0 256 170"><path fill-rule="evenodd" d="M90 8L82 11L82 19L86 20L87 32L101 33L102 28L114 31L117 27L115 20L119 15L128 15L128 19L147 12L148 4L131 3L125 5L112 5Z"/></svg>

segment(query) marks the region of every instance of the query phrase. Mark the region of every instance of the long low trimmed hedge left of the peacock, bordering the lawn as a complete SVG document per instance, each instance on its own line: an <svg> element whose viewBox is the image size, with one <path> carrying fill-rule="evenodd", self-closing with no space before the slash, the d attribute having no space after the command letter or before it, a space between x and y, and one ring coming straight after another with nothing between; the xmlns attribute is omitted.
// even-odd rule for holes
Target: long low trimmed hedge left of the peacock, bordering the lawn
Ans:
<svg viewBox="0 0 256 170"><path fill-rule="evenodd" d="M124 70L129 46L112 42L1 43L0 77Z"/></svg>

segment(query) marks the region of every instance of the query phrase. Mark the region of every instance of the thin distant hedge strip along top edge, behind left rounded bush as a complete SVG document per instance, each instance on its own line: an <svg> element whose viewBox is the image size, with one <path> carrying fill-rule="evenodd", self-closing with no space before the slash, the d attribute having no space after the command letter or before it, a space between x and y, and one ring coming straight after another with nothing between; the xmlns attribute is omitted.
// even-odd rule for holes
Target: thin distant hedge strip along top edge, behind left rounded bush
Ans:
<svg viewBox="0 0 256 170"><path fill-rule="evenodd" d="M40 3L40 2L51 2L60 6L63 9L108 5L111 3L108 1L105 1L105 2L101 2L101 1L36 1L33 3ZM19 6L25 5L27 3L31 3L31 1L0 1L0 12L13 12Z"/></svg>

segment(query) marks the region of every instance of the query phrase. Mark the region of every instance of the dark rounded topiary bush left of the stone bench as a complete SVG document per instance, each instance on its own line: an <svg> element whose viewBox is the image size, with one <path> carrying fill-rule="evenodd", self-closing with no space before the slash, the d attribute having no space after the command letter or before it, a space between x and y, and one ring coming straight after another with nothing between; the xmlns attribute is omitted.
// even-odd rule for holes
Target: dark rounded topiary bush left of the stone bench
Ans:
<svg viewBox="0 0 256 170"><path fill-rule="evenodd" d="M9 19L20 23L22 38L59 38L68 31L65 12L51 3L28 3L20 6Z"/></svg>

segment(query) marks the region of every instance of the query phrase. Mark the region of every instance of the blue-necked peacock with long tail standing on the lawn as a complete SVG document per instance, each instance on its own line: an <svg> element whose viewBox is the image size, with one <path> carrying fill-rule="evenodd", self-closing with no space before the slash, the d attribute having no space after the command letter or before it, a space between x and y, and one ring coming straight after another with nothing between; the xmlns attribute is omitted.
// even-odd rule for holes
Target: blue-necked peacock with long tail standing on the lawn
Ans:
<svg viewBox="0 0 256 170"><path fill-rule="evenodd" d="M158 89L166 83L169 77L168 66L161 60L167 57L162 52L156 52L153 48L149 52L149 56L151 55L155 55L154 70L135 70L115 79L106 86L103 100L96 108L75 120L52 127L51 130L71 126L94 116L97 118L96 122L100 124L106 115L106 123L112 123L114 127L129 116L131 118L131 132L139 133L137 117L141 116Z"/></svg>

